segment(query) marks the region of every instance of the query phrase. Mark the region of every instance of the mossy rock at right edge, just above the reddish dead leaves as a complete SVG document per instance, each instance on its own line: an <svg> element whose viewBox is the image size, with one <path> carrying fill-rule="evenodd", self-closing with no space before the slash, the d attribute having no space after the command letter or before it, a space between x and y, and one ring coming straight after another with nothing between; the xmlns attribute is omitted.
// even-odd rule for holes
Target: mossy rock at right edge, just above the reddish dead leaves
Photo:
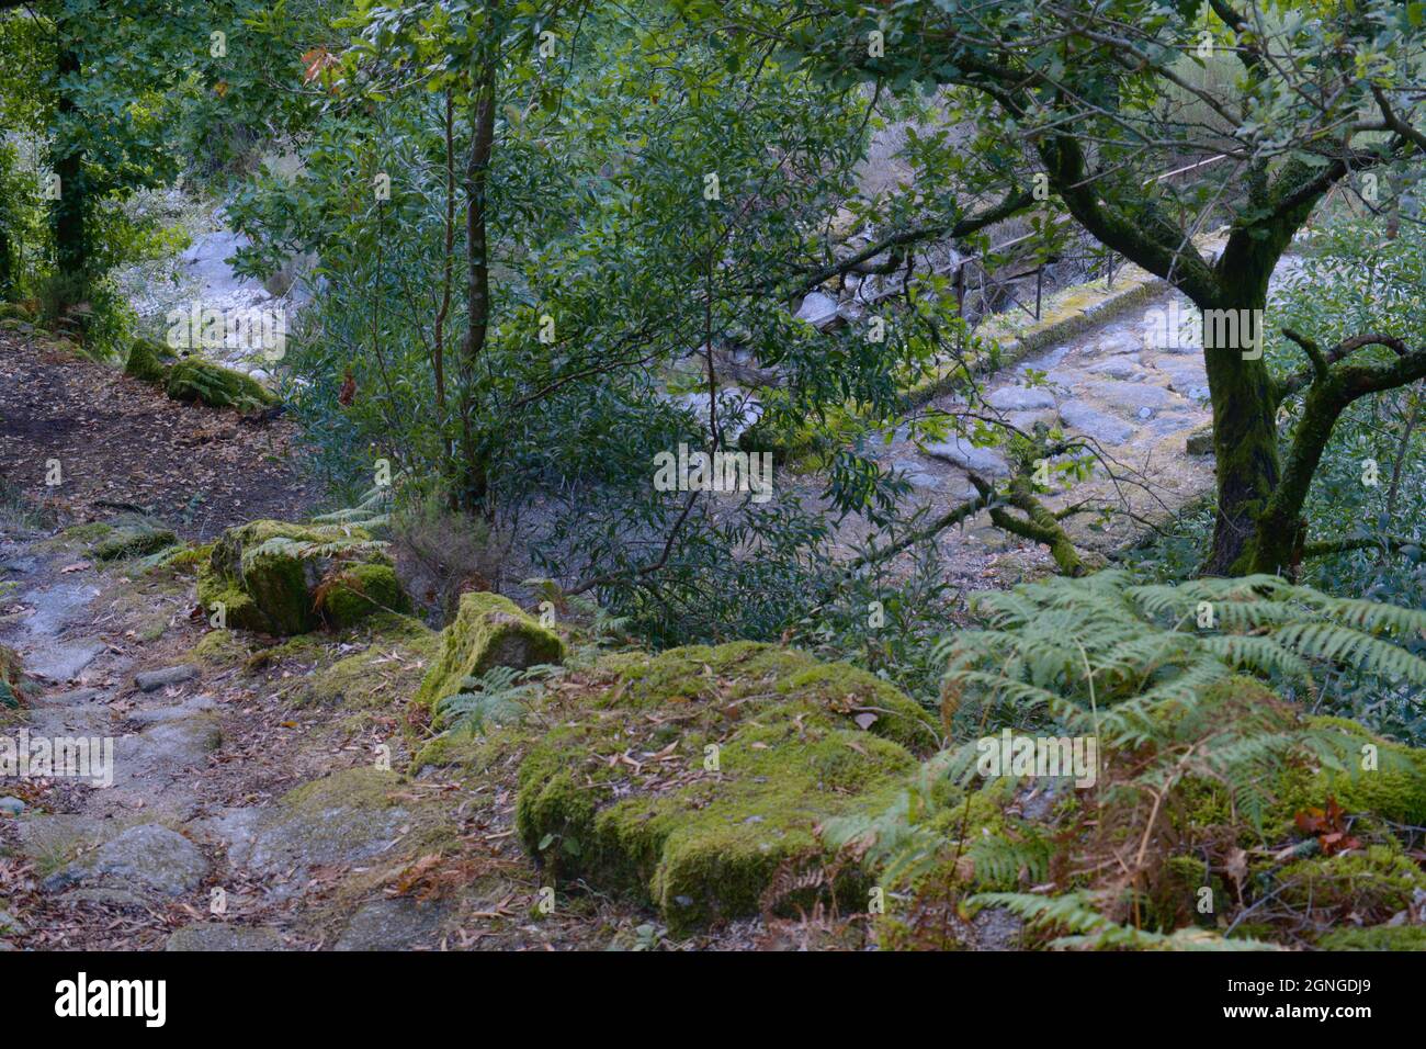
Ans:
<svg viewBox="0 0 1426 1049"><path fill-rule="evenodd" d="M1291 822L1296 812L1323 808L1328 798L1335 798L1349 814L1368 814L1410 826L1426 824L1426 749L1382 739L1348 718L1308 718L1308 728L1348 736L1356 751L1349 756L1359 762L1365 758L1360 746L1373 745L1376 768L1353 768L1349 772L1293 769L1283 778L1279 819Z"/></svg>

